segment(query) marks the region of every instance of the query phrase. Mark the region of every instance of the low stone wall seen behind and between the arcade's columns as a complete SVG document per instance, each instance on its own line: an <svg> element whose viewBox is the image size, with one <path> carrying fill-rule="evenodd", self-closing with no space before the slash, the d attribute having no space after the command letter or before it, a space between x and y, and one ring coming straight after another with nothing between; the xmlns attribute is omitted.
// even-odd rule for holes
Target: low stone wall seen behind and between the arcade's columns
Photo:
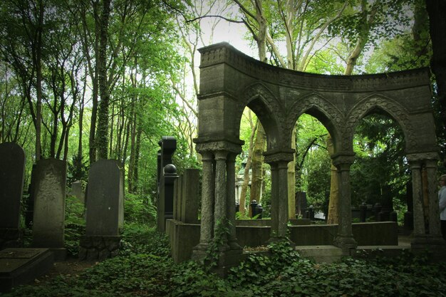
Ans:
<svg viewBox="0 0 446 297"><path fill-rule="evenodd" d="M264 221L271 222L271 220ZM296 246L332 245L337 228L338 225L334 224L289 226L290 239ZM352 224L352 229L358 246L398 245L398 225L395 222L358 223ZM190 259L192 249L199 243L199 224L184 224L170 219L166 222L166 231L169 235L172 257L175 262L179 263ZM236 226L236 232L241 246L256 247L267 244L271 227Z"/></svg>

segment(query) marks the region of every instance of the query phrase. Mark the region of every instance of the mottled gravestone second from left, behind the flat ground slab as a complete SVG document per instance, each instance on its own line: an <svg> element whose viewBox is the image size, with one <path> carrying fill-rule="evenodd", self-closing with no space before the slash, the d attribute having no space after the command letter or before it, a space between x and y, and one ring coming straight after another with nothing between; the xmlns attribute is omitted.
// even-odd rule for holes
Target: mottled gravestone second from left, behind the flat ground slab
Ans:
<svg viewBox="0 0 446 297"><path fill-rule="evenodd" d="M56 260L65 259L66 161L39 160L35 178L32 246L50 248Z"/></svg>

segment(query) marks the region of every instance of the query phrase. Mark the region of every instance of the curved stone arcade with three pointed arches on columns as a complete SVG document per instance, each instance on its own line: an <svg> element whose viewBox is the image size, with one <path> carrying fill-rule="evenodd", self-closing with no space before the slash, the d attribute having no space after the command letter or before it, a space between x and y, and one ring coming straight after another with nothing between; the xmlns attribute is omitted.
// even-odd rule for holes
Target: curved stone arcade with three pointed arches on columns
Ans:
<svg viewBox="0 0 446 297"><path fill-rule="evenodd" d="M333 137L333 164L338 170L340 222L334 244L356 247L351 228L350 167L354 160L353 132L373 108L400 123L406 154L413 170L415 245L438 243L440 227L435 192L437 143L430 103L427 68L374 75L316 75L289 71L256 61L228 43L201 48L199 127L195 140L203 156L202 224L194 258L209 246L219 224L233 222L234 160L241 152L239 124L246 106L265 127L265 162L271 165L271 239L286 236L288 222L287 164L293 159L291 131L302 113L313 113ZM420 168L426 167L430 188L430 226L420 225L423 209L415 207L420 193ZM232 210L231 210L232 209ZM219 249L222 255L241 253L234 224ZM414 246L414 244L413 244Z"/></svg>

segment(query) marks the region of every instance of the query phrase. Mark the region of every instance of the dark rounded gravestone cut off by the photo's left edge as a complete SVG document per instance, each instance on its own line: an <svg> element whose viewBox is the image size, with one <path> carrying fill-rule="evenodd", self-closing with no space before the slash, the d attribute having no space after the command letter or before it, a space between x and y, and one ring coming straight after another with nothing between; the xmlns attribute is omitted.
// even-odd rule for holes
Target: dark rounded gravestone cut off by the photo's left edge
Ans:
<svg viewBox="0 0 446 297"><path fill-rule="evenodd" d="M0 250L21 245L20 204L25 152L13 142L0 144Z"/></svg>

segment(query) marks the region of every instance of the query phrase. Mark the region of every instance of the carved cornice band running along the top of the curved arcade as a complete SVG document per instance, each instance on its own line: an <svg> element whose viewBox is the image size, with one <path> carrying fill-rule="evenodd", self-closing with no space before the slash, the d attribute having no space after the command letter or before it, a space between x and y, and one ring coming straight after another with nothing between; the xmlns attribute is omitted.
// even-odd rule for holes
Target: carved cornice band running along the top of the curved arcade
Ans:
<svg viewBox="0 0 446 297"><path fill-rule="evenodd" d="M202 54L200 68L226 63L251 77L291 88L327 92L370 92L430 86L429 68L366 75L322 75L290 71L262 63L237 51L229 43L200 48L199 52Z"/></svg>

